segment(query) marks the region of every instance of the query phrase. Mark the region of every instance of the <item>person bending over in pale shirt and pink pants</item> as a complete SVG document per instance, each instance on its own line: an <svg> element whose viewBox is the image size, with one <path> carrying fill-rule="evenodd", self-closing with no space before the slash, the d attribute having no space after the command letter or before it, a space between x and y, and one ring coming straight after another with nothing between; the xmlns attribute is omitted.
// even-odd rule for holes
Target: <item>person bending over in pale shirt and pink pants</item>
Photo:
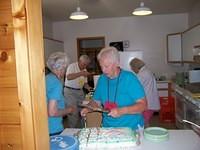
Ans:
<svg viewBox="0 0 200 150"><path fill-rule="evenodd" d="M160 109L156 79L153 73L146 67L145 63L138 58L130 61L130 67L137 74L145 90L148 109L143 112L143 116L145 126L147 127L149 126L153 113Z"/></svg>

